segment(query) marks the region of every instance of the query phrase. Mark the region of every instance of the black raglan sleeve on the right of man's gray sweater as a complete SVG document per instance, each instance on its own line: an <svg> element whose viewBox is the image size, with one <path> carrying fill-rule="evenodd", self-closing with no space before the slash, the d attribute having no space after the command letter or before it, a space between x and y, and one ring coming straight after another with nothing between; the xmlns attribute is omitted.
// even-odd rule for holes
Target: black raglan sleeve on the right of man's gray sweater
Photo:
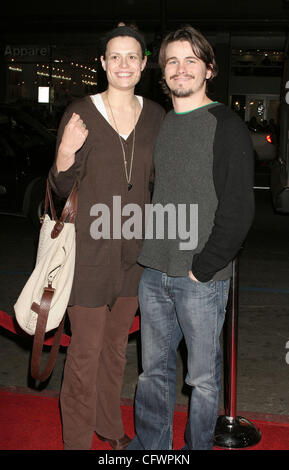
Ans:
<svg viewBox="0 0 289 470"><path fill-rule="evenodd" d="M192 272L207 282L239 252L254 218L254 154L243 121L233 111L216 116L213 179L218 198L211 234L194 255Z"/></svg>

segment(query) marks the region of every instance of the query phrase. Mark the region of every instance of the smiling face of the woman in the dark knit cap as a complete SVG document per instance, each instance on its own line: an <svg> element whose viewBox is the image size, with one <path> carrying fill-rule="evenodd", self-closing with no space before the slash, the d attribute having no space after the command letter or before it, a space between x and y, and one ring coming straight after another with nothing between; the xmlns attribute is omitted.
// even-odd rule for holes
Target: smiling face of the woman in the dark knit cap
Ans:
<svg viewBox="0 0 289 470"><path fill-rule="evenodd" d="M107 43L105 57L101 57L108 86L119 90L135 87L145 68L147 58L142 58L139 42L130 36L118 36Z"/></svg>

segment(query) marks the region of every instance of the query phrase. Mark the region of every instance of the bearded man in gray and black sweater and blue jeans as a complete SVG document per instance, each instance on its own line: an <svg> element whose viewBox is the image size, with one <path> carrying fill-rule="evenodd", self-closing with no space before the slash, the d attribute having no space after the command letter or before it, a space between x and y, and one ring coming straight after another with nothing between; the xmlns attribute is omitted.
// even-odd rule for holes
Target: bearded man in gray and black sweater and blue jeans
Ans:
<svg viewBox="0 0 289 470"><path fill-rule="evenodd" d="M159 62L174 109L155 147L152 203L185 204L186 217L197 205L198 240L188 250L177 230L175 239L156 234L145 240L139 256L146 267L139 286L143 373L135 400L136 436L127 449L172 448L183 336L186 383L192 387L185 449L212 449L232 260L254 214L253 151L240 118L206 94L217 70L213 50L198 31L188 26L168 34Z"/></svg>

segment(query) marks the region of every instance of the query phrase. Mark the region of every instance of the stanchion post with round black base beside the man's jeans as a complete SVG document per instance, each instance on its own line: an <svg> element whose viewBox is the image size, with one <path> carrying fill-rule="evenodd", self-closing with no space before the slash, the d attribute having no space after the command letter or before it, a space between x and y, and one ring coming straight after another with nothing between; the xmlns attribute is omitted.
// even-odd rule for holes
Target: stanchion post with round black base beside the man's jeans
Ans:
<svg viewBox="0 0 289 470"><path fill-rule="evenodd" d="M237 357L238 357L239 257L233 261L224 340L224 415L220 415L215 429L217 447L242 449L256 445L260 430L249 420L237 416Z"/></svg>

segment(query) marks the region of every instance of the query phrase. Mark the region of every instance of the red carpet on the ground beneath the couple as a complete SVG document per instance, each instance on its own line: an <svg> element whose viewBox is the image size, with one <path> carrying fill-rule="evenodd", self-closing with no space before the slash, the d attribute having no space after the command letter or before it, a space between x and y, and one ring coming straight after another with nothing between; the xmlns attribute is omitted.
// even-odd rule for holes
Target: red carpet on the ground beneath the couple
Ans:
<svg viewBox="0 0 289 470"><path fill-rule="evenodd" d="M180 407L178 407L179 409ZM134 435L133 408L122 406L125 431ZM250 419L247 416L248 419ZM280 417L282 418L282 417ZM289 423L251 420L262 432L258 445L247 450L289 450ZM16 393L0 389L0 450L61 450L61 421L58 397ZM186 423L186 412L174 416L174 448L180 449ZM93 441L93 450L109 450L110 446Z"/></svg>

